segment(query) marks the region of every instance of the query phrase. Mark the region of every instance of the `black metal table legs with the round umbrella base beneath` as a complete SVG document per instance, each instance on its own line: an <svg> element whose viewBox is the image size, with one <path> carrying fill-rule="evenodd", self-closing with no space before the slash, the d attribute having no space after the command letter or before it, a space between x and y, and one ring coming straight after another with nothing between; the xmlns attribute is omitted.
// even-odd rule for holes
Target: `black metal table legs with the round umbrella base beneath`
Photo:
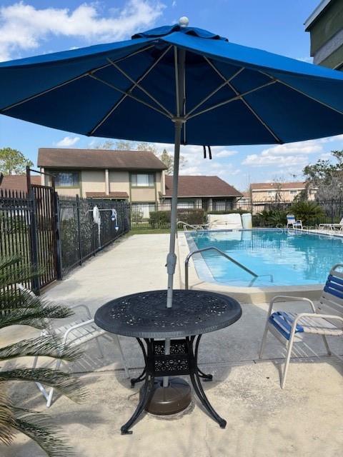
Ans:
<svg viewBox="0 0 343 457"><path fill-rule="evenodd" d="M197 365L199 341L201 335L187 336L183 339L170 341L170 353L164 353L164 341L155 341L154 338L144 338L146 348L140 338L137 338L143 351L145 367L138 378L131 379L131 387L135 383L144 381L139 395L139 403L129 421L121 427L121 434L132 433L129 429L139 418L141 413L169 415L183 411L191 402L189 384L181 378L169 378L169 386L161 386L158 376L189 375L194 392L202 402L210 416L225 428L227 421L220 417L204 393L202 381L211 381L212 375L203 373ZM195 341L195 347L194 346Z"/></svg>

